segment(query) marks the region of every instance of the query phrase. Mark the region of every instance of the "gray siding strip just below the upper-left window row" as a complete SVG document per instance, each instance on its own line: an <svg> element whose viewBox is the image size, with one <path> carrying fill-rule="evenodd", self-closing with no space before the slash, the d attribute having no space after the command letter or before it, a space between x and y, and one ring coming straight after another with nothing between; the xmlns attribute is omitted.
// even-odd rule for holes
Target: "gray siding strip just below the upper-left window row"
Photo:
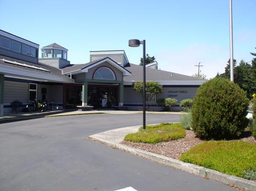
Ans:
<svg viewBox="0 0 256 191"><path fill-rule="evenodd" d="M37 55L38 55L38 49L36 49L36 50L37 50ZM4 55L4 56L9 56L11 58L16 58L19 60L24 60L27 62L35 63L35 64L38 63L38 57L28 56L26 54L17 53L17 52L14 52L14 51L11 51L11 50L8 50L5 48L1 48L1 47L0 47L0 54Z"/></svg>

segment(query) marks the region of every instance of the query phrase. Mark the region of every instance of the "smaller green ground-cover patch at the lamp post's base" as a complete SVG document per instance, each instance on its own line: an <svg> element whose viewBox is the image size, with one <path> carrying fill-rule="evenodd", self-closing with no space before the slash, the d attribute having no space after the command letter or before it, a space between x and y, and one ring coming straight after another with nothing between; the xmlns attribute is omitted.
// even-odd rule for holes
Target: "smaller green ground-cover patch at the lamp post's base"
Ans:
<svg viewBox="0 0 256 191"><path fill-rule="evenodd" d="M146 126L145 130L140 127L137 133L126 135L124 140L156 144L163 141L184 138L185 134L185 129L181 127L180 123L161 123L158 125Z"/></svg>

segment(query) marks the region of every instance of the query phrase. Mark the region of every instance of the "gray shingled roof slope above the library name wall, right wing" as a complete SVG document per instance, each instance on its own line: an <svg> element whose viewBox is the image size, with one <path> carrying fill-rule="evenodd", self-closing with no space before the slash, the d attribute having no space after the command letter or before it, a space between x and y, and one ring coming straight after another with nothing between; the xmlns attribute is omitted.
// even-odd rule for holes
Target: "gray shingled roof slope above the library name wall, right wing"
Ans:
<svg viewBox="0 0 256 191"><path fill-rule="evenodd" d="M126 67L131 73L131 76L124 76L123 80L126 82L125 85L130 85L133 82L143 81L143 66L137 64L130 64L130 67ZM184 83L190 85L200 85L206 80L196 78L188 75L177 74L173 72L167 72L164 70L157 70L154 68L146 67L146 81L159 82L161 85L172 85Z"/></svg>

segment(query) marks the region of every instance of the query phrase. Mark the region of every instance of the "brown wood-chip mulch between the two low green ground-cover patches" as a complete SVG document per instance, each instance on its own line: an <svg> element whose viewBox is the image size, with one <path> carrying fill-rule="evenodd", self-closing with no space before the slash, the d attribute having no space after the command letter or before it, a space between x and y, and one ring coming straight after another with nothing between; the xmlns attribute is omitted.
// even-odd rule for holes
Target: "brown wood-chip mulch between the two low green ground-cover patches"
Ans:
<svg viewBox="0 0 256 191"><path fill-rule="evenodd" d="M256 144L256 138L252 136L244 136L240 140L248 141ZM160 142L156 144L147 143L134 143L123 140L121 144L133 147L136 149L145 150L148 152L156 153L173 159L178 159L181 154L189 150L190 148L204 142L200 138L197 138L195 133L191 130L186 130L186 137L178 140L171 140L167 142Z"/></svg>

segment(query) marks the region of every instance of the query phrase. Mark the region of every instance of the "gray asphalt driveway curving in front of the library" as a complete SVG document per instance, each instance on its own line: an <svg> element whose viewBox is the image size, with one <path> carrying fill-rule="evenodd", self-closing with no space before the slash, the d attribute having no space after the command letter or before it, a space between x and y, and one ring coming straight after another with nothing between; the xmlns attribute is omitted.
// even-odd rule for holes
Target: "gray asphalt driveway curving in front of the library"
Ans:
<svg viewBox="0 0 256 191"><path fill-rule="evenodd" d="M146 117L153 124L181 115ZM94 114L0 124L0 191L233 190L88 139L141 123L142 114Z"/></svg>

